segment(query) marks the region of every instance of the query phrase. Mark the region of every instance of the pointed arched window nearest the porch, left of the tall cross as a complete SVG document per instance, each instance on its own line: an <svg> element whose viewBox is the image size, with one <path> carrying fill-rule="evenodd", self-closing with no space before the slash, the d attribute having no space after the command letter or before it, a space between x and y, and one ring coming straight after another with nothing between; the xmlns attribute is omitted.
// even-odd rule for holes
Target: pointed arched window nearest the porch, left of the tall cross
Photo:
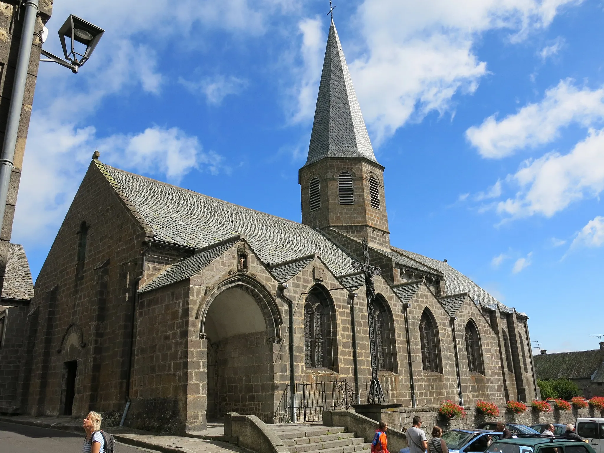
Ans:
<svg viewBox="0 0 604 453"><path fill-rule="evenodd" d="M332 304L320 288L310 290L304 304L304 363L335 370Z"/></svg>

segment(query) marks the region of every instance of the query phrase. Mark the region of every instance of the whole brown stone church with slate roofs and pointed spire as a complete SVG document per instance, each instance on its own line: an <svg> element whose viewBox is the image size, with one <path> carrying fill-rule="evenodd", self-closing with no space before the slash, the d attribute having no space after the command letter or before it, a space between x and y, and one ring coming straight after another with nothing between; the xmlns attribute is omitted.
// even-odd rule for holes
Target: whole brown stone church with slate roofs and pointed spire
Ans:
<svg viewBox="0 0 604 453"><path fill-rule="evenodd" d="M446 260L391 245L384 167L333 22L299 182L302 223L95 153L35 284L14 405L118 420L127 405L129 426L182 432L229 411L274 422L291 377L345 382L366 401L365 279L351 266L364 239L382 270L373 309L388 401L536 397L527 316Z"/></svg>

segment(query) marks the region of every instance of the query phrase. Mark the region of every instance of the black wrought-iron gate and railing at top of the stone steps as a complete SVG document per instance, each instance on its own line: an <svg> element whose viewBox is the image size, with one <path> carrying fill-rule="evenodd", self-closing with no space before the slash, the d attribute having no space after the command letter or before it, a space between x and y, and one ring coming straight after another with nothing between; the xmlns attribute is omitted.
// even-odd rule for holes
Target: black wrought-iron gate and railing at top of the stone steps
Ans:
<svg viewBox="0 0 604 453"><path fill-rule="evenodd" d="M275 423L321 422L323 411L349 409L355 396L353 388L346 381L295 384L295 390L295 419L291 420L291 386L288 385L275 411Z"/></svg>

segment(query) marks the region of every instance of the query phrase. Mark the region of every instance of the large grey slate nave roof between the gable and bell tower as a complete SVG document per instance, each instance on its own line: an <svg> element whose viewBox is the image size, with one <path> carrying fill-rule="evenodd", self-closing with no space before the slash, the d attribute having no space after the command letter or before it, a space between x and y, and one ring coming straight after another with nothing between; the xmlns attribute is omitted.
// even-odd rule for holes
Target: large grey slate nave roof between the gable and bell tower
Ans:
<svg viewBox="0 0 604 453"><path fill-rule="evenodd" d="M352 257L309 226L95 162L127 196L155 240L203 248L245 234L267 266L319 252L335 275L352 270Z"/></svg>

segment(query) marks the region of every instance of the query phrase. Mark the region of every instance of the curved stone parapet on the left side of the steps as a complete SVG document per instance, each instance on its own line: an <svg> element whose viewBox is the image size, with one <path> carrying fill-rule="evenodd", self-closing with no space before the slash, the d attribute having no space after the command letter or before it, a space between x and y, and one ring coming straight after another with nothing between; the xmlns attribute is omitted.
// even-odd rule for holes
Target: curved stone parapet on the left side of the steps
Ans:
<svg viewBox="0 0 604 453"><path fill-rule="evenodd" d="M277 434L256 416L226 414L225 436L236 437L237 445L257 453L289 453Z"/></svg>

